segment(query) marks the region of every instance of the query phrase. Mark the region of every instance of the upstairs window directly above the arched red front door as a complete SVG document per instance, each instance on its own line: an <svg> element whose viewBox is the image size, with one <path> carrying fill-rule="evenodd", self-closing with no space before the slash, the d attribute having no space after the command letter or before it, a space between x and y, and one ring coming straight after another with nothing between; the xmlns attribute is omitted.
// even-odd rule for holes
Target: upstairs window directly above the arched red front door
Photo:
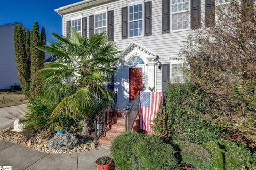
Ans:
<svg viewBox="0 0 256 170"><path fill-rule="evenodd" d="M129 6L129 36L137 37L143 35L143 5Z"/></svg>

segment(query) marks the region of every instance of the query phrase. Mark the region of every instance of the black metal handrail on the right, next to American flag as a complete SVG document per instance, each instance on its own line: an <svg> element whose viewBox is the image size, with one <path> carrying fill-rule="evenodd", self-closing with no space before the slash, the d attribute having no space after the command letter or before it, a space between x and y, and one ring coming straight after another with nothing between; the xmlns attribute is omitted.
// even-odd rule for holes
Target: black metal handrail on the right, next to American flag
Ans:
<svg viewBox="0 0 256 170"><path fill-rule="evenodd" d="M130 131L140 111L139 92L132 101L132 105L125 115L125 131Z"/></svg>

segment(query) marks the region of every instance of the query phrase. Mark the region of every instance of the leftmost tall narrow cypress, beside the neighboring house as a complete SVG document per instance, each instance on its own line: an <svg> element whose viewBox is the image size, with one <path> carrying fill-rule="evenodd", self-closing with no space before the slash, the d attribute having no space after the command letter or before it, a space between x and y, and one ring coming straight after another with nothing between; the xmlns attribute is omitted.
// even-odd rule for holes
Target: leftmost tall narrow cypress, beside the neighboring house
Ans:
<svg viewBox="0 0 256 170"><path fill-rule="evenodd" d="M28 31L29 32L29 31ZM26 53L26 31L21 24L14 29L14 50L17 71L23 94L29 99L30 60Z"/></svg>

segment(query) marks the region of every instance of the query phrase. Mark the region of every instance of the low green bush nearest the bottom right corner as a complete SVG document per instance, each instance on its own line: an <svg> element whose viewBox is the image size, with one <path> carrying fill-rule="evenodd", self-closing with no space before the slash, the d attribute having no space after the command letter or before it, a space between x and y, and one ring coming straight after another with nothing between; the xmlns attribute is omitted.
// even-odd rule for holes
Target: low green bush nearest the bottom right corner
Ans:
<svg viewBox="0 0 256 170"><path fill-rule="evenodd" d="M247 169L251 167L251 152L241 142L223 140L218 142L220 148L225 150L225 169Z"/></svg>

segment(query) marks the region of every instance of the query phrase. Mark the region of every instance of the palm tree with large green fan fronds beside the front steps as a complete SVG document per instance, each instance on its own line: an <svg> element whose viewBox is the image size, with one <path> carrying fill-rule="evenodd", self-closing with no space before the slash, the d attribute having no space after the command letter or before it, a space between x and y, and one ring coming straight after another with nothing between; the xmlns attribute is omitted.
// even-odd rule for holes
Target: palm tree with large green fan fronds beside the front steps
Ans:
<svg viewBox="0 0 256 170"><path fill-rule="evenodd" d="M72 30L71 39L52 34L57 39L39 50L57 56L45 63L41 95L45 104L57 105L51 116L83 115L83 135L89 134L89 116L95 114L96 103L112 100L106 83L115 72L117 45L108 42L107 34L94 34L91 39ZM97 101L97 102L96 102Z"/></svg>

